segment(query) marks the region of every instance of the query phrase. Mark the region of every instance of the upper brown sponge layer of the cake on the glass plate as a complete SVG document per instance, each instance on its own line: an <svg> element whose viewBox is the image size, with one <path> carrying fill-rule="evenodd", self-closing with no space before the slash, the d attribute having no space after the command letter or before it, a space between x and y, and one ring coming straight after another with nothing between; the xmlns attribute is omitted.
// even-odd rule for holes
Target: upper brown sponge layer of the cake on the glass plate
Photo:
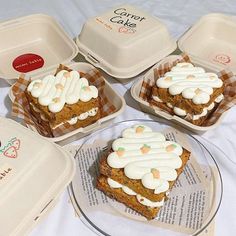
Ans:
<svg viewBox="0 0 236 236"><path fill-rule="evenodd" d="M180 156L182 160L182 165L180 168L176 170L177 175L179 176L183 171L184 166L186 165L188 159L190 157L190 152L186 149L183 150L182 155ZM166 191L155 194L152 189L145 188L142 184L141 180L138 179L130 179L125 175L124 168L112 168L107 163L107 156L103 156L100 160L100 173L106 177L109 177L120 184L123 184L134 192L142 195L143 197L151 200L151 201L161 201L166 196ZM175 181L169 181L169 189L171 189L174 185Z"/></svg>

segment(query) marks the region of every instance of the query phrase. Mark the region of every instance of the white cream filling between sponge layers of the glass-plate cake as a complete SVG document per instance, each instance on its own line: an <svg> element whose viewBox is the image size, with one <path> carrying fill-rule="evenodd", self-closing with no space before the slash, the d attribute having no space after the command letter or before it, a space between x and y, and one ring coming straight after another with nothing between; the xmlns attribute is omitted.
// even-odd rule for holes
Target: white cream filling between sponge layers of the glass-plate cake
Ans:
<svg viewBox="0 0 236 236"><path fill-rule="evenodd" d="M159 202L150 201L149 199L141 196L140 194L137 194L136 192L134 192L132 189L128 188L127 186L122 185L111 178L107 178L107 183L109 184L111 188L121 188L126 194L130 196L136 196L137 201L144 206L161 207L164 204L164 198Z"/></svg>

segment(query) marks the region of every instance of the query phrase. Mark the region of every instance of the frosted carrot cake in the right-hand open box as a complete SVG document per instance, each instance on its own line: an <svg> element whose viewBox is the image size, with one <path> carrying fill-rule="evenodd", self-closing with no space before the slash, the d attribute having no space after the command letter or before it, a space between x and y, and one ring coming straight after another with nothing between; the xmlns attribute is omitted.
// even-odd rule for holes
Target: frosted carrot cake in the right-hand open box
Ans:
<svg viewBox="0 0 236 236"><path fill-rule="evenodd" d="M224 99L223 81L191 63L178 63L157 79L150 103L201 125Z"/></svg>

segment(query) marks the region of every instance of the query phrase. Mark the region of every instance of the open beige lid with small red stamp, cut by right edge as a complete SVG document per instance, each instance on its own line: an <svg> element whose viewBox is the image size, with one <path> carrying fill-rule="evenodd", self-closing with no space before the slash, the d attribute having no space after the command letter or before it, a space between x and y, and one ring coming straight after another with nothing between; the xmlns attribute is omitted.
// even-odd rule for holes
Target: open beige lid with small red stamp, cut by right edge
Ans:
<svg viewBox="0 0 236 236"><path fill-rule="evenodd" d="M219 13L203 16L178 41L181 51L201 65L236 74L236 17Z"/></svg>

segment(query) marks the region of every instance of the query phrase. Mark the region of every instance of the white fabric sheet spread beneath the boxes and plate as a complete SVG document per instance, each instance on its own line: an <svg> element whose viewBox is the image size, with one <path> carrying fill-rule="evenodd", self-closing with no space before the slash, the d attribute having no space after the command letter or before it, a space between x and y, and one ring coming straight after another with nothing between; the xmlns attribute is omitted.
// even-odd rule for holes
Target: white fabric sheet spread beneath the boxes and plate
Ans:
<svg viewBox="0 0 236 236"><path fill-rule="evenodd" d="M80 33L83 23L112 6L131 3L159 17L168 27L171 35L178 39L199 17L211 12L236 15L235 0L0 0L0 21L32 13L45 13L57 19L65 31L74 38ZM0 39L1 40L1 39ZM16 39L17 40L17 39ZM112 80L114 88L125 96L128 104L124 114L116 121L132 118L148 118L132 107L138 107L125 86ZM0 115L10 117L11 103L7 97L8 84L0 80ZM230 159L217 160L223 175L224 195L221 208L216 217L216 235L227 236L236 233L236 107L225 116L222 124L203 135L221 148ZM222 157L223 158L223 157ZM94 235L78 218L74 217L68 195L65 191L60 202L31 233L31 236L78 236Z"/></svg>

